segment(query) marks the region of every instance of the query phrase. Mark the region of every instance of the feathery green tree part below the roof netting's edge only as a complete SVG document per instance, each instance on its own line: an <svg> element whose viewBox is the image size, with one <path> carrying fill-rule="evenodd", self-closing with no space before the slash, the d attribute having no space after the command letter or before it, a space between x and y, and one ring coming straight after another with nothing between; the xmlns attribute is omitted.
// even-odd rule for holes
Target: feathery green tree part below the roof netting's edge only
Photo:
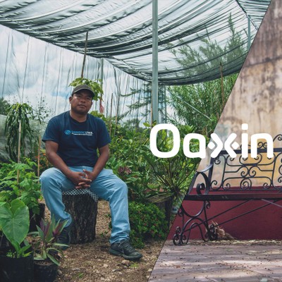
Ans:
<svg viewBox="0 0 282 282"><path fill-rule="evenodd" d="M168 87L171 93L168 104L171 106L169 121L192 125L195 132L210 135L216 126L223 106L231 93L237 74L221 79L197 83L195 85L180 85ZM223 82L224 101L221 96Z"/></svg>

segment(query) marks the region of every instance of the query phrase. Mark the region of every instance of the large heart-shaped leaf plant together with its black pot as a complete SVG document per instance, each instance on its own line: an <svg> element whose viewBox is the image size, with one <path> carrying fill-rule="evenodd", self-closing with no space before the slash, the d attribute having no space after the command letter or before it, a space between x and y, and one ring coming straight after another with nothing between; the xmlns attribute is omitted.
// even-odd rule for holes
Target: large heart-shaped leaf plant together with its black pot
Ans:
<svg viewBox="0 0 282 282"><path fill-rule="evenodd" d="M33 281L33 252L26 240L29 226L30 215L23 201L0 202L0 228L9 242L9 247L0 251L2 282Z"/></svg>

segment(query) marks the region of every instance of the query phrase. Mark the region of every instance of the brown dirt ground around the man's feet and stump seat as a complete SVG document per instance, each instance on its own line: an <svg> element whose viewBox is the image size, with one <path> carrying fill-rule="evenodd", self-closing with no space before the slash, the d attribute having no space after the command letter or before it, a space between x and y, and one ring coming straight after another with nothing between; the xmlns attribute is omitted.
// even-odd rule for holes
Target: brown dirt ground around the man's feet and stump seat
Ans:
<svg viewBox="0 0 282 282"><path fill-rule="evenodd" d="M71 245L59 266L56 282L126 281L145 282L157 262L164 241L146 244L139 262L129 262L109 254L109 204L99 201L96 239L92 243Z"/></svg>

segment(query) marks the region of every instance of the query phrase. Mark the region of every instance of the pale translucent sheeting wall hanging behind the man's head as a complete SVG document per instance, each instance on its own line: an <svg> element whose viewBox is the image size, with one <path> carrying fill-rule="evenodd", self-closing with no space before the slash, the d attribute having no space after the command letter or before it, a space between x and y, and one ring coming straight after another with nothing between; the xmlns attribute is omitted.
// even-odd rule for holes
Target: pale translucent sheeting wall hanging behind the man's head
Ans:
<svg viewBox="0 0 282 282"><path fill-rule="evenodd" d="M80 77L82 54L24 35L0 26L0 97L10 104L25 102L41 109L44 118L69 109L68 97L73 87L68 85ZM101 78L101 59L87 56L84 77ZM104 61L103 106L106 116L119 116L128 105L139 99L139 94L121 97L131 89L142 88L143 81ZM92 110L99 111L99 102ZM133 118L129 114L128 118ZM144 120L145 121L145 120Z"/></svg>

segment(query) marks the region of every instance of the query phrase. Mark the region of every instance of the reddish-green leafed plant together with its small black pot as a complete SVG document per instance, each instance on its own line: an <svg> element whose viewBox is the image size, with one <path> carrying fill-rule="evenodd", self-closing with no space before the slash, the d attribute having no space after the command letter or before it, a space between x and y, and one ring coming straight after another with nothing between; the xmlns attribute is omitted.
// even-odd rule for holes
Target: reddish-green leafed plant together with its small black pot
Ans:
<svg viewBox="0 0 282 282"><path fill-rule="evenodd" d="M37 231L30 233L32 237L32 246L35 252L34 269L35 281L51 282L56 279L59 266L59 259L63 256L61 247L66 245L56 243L56 239L66 226L67 221L40 221Z"/></svg>

